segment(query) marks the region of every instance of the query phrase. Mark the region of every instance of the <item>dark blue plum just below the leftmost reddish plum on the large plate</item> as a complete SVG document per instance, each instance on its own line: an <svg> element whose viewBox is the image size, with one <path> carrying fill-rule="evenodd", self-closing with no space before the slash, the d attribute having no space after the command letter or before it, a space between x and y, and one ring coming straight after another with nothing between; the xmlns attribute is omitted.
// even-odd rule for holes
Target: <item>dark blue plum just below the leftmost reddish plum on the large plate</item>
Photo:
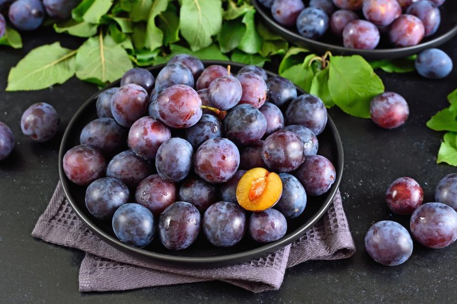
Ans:
<svg viewBox="0 0 457 304"><path fill-rule="evenodd" d="M85 202L89 212L98 219L111 219L114 212L127 203L130 191L115 178L104 177L92 182L86 189Z"/></svg>

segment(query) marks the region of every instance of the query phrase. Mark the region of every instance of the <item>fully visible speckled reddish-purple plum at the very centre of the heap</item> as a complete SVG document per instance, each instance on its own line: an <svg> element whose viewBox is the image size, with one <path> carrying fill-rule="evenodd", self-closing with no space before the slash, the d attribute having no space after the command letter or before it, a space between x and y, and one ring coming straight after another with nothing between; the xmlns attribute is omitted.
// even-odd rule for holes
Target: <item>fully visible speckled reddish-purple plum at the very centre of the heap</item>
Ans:
<svg viewBox="0 0 457 304"><path fill-rule="evenodd" d="M235 175L240 164L236 145L220 137L206 140L194 155L194 170L211 184L225 183Z"/></svg>

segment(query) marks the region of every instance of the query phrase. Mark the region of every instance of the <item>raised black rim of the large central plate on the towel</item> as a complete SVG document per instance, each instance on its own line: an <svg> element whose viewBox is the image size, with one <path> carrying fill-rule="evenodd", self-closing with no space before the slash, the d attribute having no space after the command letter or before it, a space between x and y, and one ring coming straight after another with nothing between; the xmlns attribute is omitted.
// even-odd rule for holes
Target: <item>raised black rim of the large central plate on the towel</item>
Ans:
<svg viewBox="0 0 457 304"><path fill-rule="evenodd" d="M235 63L231 61L220 61L220 60L202 60L203 65L205 67L208 67L210 65L228 65L230 64L231 66L236 66L237 68L242 68L246 65L241 64L241 63ZM160 64L156 66L150 67L148 70L160 70L166 66L166 64ZM267 71L267 74L269 77L274 77L278 76L277 74ZM185 256L172 256L172 255L166 255L166 254L160 254L160 253L155 253L149 250L145 250L142 248L137 248L133 247L130 245L127 245L117 238L105 233L101 228L99 228L95 222L93 222L92 219L90 219L84 212L77 206L75 203L75 199L71 194L70 190L70 180L67 178L65 175L65 172L63 170L63 156L67 152L65 150L65 147L67 145L67 142L71 140L70 133L71 130L75 128L75 124L78 122L80 119L81 113L86 111L88 107L90 107L96 100L96 97L103 92L104 90L115 87L119 85L119 80L113 82L112 84L106 86L102 90L98 91L97 93L93 94L88 100L86 100L81 107L76 111L72 119L67 125L67 128L65 129L65 133L62 137L60 148L59 148L59 177L60 177L60 183L63 187L65 196L67 197L68 202L70 203L72 209L75 211L76 215L78 218L84 222L84 224L91 230L94 234L99 236L102 241L105 243L108 243L110 246L119 249L125 253L132 254L136 257L141 257L141 258L147 258L149 260L153 260L158 263L162 264L171 264L171 265L179 265L179 266L184 266L184 267L215 267L215 266L223 266L223 265L230 265L230 264L236 264L236 263L241 263L245 262L248 260L252 260L254 258L259 258L263 257L265 255L268 255L279 248L285 247L292 243L293 241L297 240L300 236L305 234L307 230L309 230L318 220L321 219L321 217L324 215L324 213L329 209L333 198L338 190L338 187L341 183L342 175L343 175L343 165L344 165L344 152L343 152L343 144L341 141L341 138L339 136L338 130L336 129L336 126L331 119L331 117L328 117L328 122L326 128L330 128L330 132L332 134L332 141L334 141L337 149L337 164L335 165L336 172L338 173L336 176L336 180L333 183L333 185L330 187L330 190L327 192L327 198L322 204L321 208L317 210L316 213L314 213L311 218L309 218L305 223L303 223L298 229L294 230L293 232L286 234L284 237L280 238L277 241L267 243L267 244L260 244L259 247L250 249L247 251L239 252L239 253L234 253L234 254L228 254L228 255L222 255L222 256L207 256L207 257L185 257ZM297 90L304 94L304 91L297 87Z"/></svg>

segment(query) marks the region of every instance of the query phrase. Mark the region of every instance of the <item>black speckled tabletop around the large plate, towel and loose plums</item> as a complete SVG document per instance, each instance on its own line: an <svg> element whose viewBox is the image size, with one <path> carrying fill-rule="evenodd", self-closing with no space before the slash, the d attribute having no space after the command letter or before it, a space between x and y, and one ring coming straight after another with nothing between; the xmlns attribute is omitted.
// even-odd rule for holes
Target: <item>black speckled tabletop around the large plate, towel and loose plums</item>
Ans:
<svg viewBox="0 0 457 304"><path fill-rule="evenodd" d="M13 153L0 162L0 302L5 303L160 303L160 302L416 302L456 303L457 244L432 250L414 243L406 263L381 266L365 252L363 238L380 220L408 227L407 216L393 215L384 194L396 178L409 176L423 188L425 202L434 188L456 167L436 164L442 132L425 126L438 110L448 106L447 94L457 88L457 67L442 80L427 80L415 72L377 71L386 90L402 94L409 104L406 125L383 130L369 119L329 111L343 140L345 172L341 183L344 207L357 252L339 261L310 261L286 271L278 291L253 294L222 282L203 282L144 288L127 292L79 293L78 270L84 254L35 240L31 236L58 181L58 147L63 131L80 105L98 89L76 78L37 92L6 93L8 71L32 48L61 41L76 48L78 39L41 29L23 36L24 48L0 47L0 121L16 139ZM442 46L457 66L457 38ZM273 70L277 72L277 70ZM60 114L58 135L34 143L21 133L19 121L35 102L51 103Z"/></svg>

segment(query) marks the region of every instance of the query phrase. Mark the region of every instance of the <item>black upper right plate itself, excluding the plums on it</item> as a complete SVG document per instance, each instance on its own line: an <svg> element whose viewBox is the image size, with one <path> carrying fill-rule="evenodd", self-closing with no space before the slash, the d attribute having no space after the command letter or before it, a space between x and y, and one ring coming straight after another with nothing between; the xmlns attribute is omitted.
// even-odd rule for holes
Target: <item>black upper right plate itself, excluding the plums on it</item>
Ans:
<svg viewBox="0 0 457 304"><path fill-rule="evenodd" d="M301 36L296 26L285 27L271 15L271 10L263 6L258 0L251 0L255 9L259 13L260 19L275 34L283 37L290 43L306 47L309 50L323 55L330 51L333 55L354 55L358 54L368 60L394 59L407 57L420 52L426 48L438 47L451 40L457 34L457 1L447 0L441 7L441 24L438 31L422 40L422 42L413 47L393 47L389 44L386 35L381 34L380 44L376 49L355 49L343 47L342 38L336 37L329 29L327 33L319 40L312 40ZM308 1L304 1L307 7Z"/></svg>

